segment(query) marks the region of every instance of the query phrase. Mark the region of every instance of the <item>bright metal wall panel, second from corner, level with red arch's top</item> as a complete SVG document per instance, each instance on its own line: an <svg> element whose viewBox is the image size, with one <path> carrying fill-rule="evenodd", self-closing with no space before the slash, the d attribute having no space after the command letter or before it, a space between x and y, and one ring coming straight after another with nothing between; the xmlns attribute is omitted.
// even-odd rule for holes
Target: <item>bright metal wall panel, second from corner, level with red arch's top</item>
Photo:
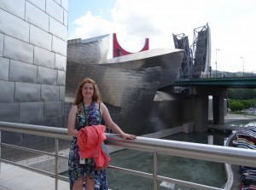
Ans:
<svg viewBox="0 0 256 190"><path fill-rule="evenodd" d="M52 35L36 26L30 26L30 43L51 50Z"/></svg>

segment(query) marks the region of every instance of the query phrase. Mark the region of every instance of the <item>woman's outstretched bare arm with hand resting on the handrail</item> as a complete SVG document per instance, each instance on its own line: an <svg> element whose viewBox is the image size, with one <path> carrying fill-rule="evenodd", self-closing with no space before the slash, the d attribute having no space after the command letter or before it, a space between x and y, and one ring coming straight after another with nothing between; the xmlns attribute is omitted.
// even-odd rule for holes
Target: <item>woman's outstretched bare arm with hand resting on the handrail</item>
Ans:
<svg viewBox="0 0 256 190"><path fill-rule="evenodd" d="M106 107L104 104L101 103L101 111L102 111L102 118L105 121L105 123L107 124L107 126L113 130L113 132L121 135L123 137L123 139L127 140L127 139L136 139L136 135L131 135L131 134L127 134L125 133L123 130L121 130L119 128L119 126L117 124L115 124L112 120L112 118L110 117L110 114L108 112L108 107Z"/></svg>

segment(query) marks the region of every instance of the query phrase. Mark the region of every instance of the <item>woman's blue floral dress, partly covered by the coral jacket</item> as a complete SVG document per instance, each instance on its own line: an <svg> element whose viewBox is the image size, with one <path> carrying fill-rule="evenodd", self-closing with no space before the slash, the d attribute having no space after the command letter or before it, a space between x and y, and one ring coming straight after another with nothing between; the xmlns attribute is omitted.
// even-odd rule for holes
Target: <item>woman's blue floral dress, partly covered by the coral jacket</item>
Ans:
<svg viewBox="0 0 256 190"><path fill-rule="evenodd" d="M83 109L85 113L85 118L78 108L75 123L76 130L81 130L82 128L84 128L87 122L89 125L101 124L101 112L96 107L94 101L92 101L90 107L84 107L83 105ZM106 170L95 170L95 168L96 164L93 158L87 158L85 159L85 164L80 164L80 153L79 146L77 144L77 137L73 137L68 159L68 176L70 181L70 190L73 189L73 182L84 176L89 176L91 179L95 179L96 190L108 190Z"/></svg>

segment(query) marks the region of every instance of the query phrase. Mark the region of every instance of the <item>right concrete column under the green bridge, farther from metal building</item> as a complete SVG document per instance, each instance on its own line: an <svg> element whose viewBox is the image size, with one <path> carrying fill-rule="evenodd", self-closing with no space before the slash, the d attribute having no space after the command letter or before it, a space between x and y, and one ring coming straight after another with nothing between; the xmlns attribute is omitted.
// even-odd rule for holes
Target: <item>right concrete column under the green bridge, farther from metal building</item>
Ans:
<svg viewBox="0 0 256 190"><path fill-rule="evenodd" d="M212 96L213 124L224 124L224 95Z"/></svg>

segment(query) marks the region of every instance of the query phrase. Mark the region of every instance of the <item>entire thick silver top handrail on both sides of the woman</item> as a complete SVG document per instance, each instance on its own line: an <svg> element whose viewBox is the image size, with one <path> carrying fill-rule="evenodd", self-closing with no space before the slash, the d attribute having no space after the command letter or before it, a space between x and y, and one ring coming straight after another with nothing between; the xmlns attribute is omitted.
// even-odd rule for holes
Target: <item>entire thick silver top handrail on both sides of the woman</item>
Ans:
<svg viewBox="0 0 256 190"><path fill-rule="evenodd" d="M0 121L0 130L32 135L72 139L67 129L32 124L17 124ZM138 136L135 141L124 141L119 135L106 134L108 145L127 147L148 152L165 153L185 158L196 158L226 164L244 164L255 167L256 151L237 147L222 147L185 141L171 141Z"/></svg>

